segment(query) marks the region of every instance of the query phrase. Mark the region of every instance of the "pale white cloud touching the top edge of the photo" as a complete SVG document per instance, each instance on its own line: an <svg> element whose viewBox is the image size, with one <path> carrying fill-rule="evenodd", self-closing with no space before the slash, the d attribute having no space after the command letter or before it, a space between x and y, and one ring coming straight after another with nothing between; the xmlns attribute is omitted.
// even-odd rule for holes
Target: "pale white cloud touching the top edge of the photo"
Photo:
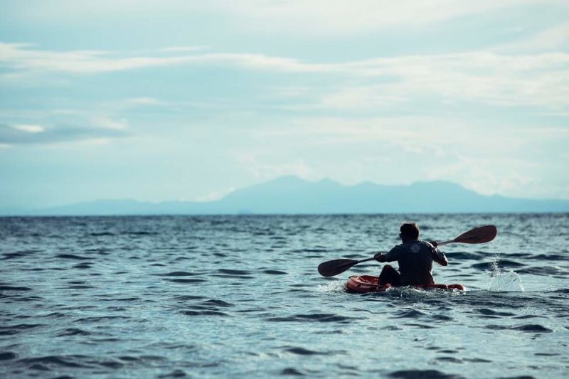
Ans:
<svg viewBox="0 0 569 379"><path fill-rule="evenodd" d="M422 26L536 2L538 1L251 0L240 1L238 4L214 1L211 6L217 8L223 4L226 11L240 16L239 21L245 27L265 33L345 36L346 33L370 33L390 27Z"/></svg>

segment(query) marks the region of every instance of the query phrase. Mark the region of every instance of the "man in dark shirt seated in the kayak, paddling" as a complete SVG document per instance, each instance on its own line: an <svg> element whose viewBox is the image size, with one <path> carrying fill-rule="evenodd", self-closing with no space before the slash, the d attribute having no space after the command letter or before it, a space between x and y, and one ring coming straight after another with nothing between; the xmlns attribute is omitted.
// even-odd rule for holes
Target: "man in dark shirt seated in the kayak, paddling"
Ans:
<svg viewBox="0 0 569 379"><path fill-rule="evenodd" d="M379 284L397 286L418 286L435 284L432 279L432 262L442 266L449 264L445 253L437 249L437 242L419 240L419 227L415 223L404 223L400 227L401 245L393 247L387 254L378 253L378 262L399 263L399 272L390 265L383 266Z"/></svg>

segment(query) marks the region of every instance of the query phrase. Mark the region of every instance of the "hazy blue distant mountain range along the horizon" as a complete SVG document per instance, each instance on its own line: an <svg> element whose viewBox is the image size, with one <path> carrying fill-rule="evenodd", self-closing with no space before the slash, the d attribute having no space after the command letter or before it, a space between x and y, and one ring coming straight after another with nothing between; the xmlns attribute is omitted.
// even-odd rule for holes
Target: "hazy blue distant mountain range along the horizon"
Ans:
<svg viewBox="0 0 569 379"><path fill-rule="evenodd" d="M3 215L508 212L569 212L569 201L484 196L445 181L420 181L409 186L371 182L343 186L330 179L310 182L296 176L284 176L210 202L107 200L36 210L0 209Z"/></svg>

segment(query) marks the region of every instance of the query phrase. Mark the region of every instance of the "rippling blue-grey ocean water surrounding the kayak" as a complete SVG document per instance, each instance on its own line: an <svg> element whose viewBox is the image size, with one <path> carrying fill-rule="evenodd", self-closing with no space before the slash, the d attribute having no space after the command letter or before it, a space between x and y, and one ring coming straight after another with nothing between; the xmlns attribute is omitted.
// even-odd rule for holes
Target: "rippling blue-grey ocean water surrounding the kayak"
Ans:
<svg viewBox="0 0 569 379"><path fill-rule="evenodd" d="M349 294L317 265L451 240L438 283ZM569 215L0 218L1 378L566 378Z"/></svg>

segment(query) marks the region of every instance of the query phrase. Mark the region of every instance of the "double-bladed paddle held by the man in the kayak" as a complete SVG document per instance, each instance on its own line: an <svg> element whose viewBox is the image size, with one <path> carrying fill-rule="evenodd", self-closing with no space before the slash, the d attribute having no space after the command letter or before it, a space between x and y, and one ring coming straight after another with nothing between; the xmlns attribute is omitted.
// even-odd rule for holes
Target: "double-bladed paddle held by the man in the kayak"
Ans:
<svg viewBox="0 0 569 379"><path fill-rule="evenodd" d="M466 233L462 233L458 237L454 238L454 240L439 242L437 243L438 246L440 245L447 245L449 243L484 243L494 240L498 230L494 225L486 225L481 226L480 228L474 228L469 230ZM368 262L369 260L373 260L374 258L368 258L366 260L349 260L349 259L339 259L339 260L329 260L328 262L323 262L318 265L318 272L323 277L334 277L337 274L341 274L342 272L346 271L346 269L350 269L352 266L357 265L361 262Z"/></svg>

